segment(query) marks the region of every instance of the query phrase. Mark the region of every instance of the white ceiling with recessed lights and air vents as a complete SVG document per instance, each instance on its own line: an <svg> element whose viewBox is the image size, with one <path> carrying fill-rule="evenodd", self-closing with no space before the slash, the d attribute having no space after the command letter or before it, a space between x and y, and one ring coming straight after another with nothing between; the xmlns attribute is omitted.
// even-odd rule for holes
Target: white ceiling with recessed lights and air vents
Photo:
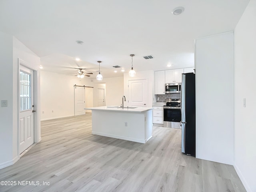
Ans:
<svg viewBox="0 0 256 192"><path fill-rule="evenodd" d="M165 70L194 66L194 39L234 30L249 0L0 0L0 31L12 34L43 70L120 68ZM173 15L175 7L184 12ZM76 44L76 40L84 42ZM145 60L142 56L153 55ZM81 60L76 61L78 57ZM167 67L167 64L172 64ZM97 72L91 76L96 77ZM72 75L72 74L71 74Z"/></svg>

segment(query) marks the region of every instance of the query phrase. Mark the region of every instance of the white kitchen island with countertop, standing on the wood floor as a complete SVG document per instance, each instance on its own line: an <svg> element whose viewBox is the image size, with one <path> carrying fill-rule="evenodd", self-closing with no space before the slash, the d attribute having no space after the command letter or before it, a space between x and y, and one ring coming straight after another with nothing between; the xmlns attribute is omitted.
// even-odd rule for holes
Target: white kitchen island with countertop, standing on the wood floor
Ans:
<svg viewBox="0 0 256 192"><path fill-rule="evenodd" d="M102 106L92 110L92 134L146 143L152 137L152 109Z"/></svg>

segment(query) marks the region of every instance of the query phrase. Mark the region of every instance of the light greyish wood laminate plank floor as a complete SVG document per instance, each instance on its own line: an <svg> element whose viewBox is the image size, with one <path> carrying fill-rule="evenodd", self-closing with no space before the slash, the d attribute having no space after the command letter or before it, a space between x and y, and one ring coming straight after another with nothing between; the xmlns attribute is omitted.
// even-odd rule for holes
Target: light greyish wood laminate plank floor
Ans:
<svg viewBox="0 0 256 192"><path fill-rule="evenodd" d="M0 181L17 182L0 192L246 192L233 166L182 154L179 129L154 126L141 144L92 135L86 114L43 121L41 131L40 143L0 170Z"/></svg>

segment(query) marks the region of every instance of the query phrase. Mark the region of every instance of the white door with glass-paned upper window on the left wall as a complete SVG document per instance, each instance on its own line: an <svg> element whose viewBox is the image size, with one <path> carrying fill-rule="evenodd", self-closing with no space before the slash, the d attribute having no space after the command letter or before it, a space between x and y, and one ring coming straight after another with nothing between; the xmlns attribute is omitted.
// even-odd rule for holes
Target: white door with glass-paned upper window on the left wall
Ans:
<svg viewBox="0 0 256 192"><path fill-rule="evenodd" d="M20 65L20 154L34 143L34 71Z"/></svg>

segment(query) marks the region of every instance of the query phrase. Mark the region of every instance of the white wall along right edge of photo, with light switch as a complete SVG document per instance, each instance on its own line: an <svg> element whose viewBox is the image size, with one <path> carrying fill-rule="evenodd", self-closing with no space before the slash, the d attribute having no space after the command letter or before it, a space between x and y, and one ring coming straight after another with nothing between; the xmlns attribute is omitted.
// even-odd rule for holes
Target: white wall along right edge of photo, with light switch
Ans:
<svg viewBox="0 0 256 192"><path fill-rule="evenodd" d="M250 0L235 31L234 167L247 192L256 191L256 0ZM246 98L246 108L243 107Z"/></svg>

